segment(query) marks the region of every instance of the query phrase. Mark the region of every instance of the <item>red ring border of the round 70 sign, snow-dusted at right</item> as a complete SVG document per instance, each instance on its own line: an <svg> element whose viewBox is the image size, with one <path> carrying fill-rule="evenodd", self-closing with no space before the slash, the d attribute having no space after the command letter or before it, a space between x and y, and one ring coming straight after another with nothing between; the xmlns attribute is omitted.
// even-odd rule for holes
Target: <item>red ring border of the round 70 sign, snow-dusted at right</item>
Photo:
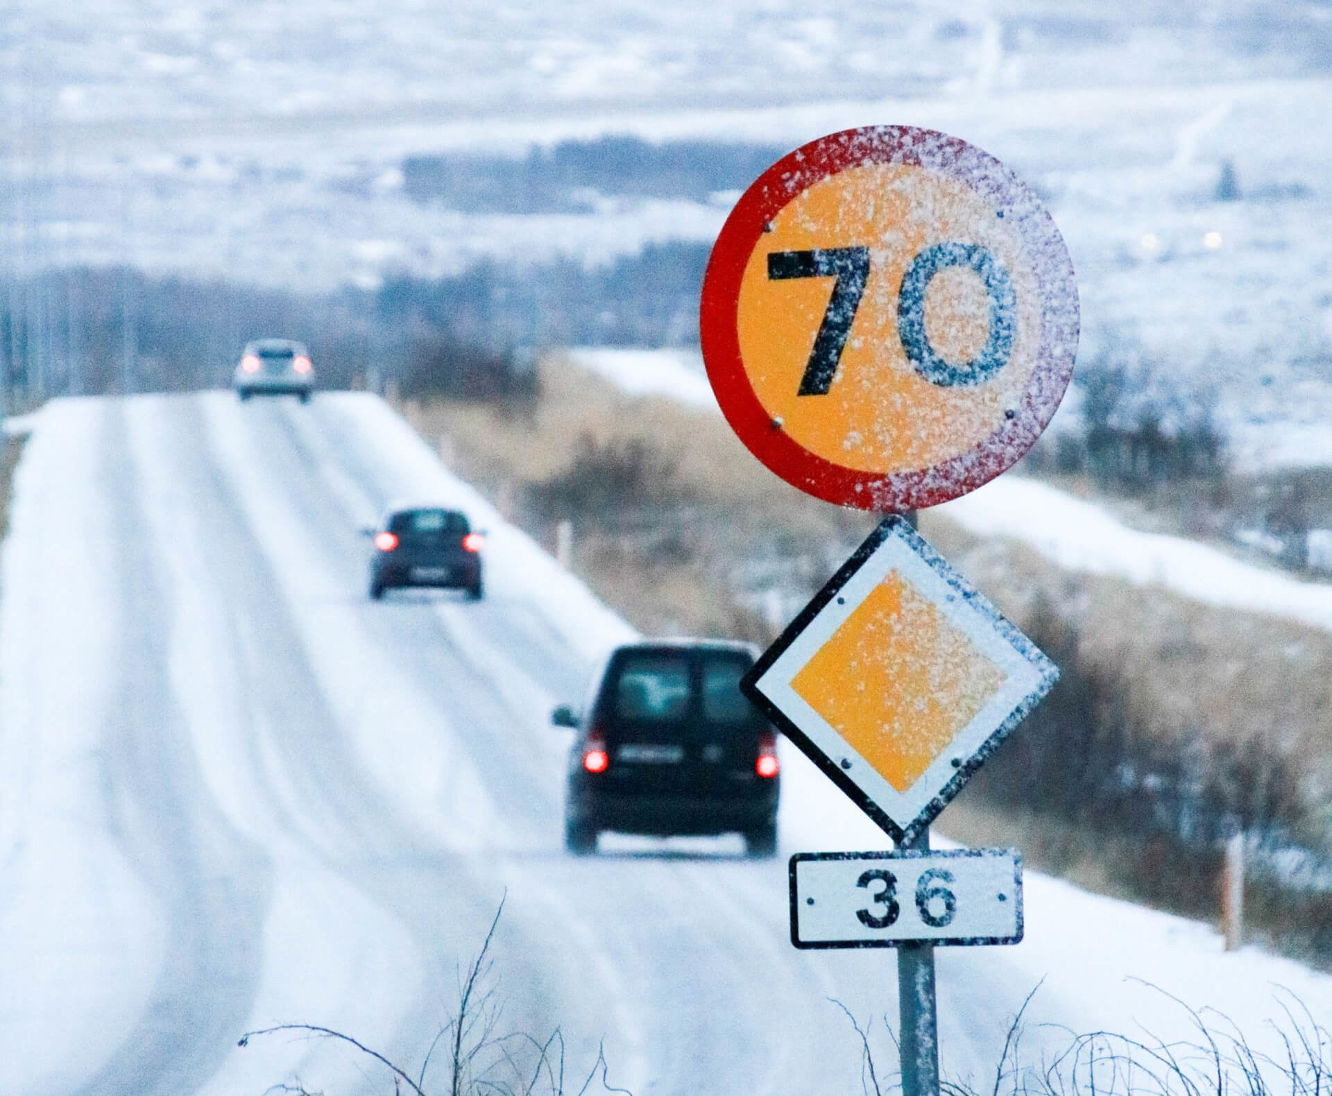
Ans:
<svg viewBox="0 0 1332 1096"><path fill-rule="evenodd" d="M1018 222L1042 293L1040 349L1014 417L958 457L891 475L827 461L774 425L745 372L735 318L745 268L767 222L809 186L860 164L914 164L962 178L982 193L999 216ZM778 160L735 204L707 261L699 334L707 377L722 414L759 461L789 483L827 502L903 511L936 506L972 491L1031 449L1072 377L1078 350L1078 286L1054 220L1027 185L992 156L932 129L910 125L844 129Z"/></svg>

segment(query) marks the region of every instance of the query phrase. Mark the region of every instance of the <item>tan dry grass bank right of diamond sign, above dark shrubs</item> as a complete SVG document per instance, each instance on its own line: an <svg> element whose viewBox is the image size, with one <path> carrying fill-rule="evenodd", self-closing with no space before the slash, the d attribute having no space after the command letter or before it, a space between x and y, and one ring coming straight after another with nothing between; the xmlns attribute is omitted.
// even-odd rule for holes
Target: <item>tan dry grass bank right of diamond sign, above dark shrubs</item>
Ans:
<svg viewBox="0 0 1332 1096"><path fill-rule="evenodd" d="M1124 686L1124 718L1180 748L1253 747L1300 774L1305 828L1332 848L1332 635L1277 617L1217 609L1160 587L1062 571L1030 549L979 541L942 515L922 531L1019 627L1054 606L1086 671Z"/></svg>

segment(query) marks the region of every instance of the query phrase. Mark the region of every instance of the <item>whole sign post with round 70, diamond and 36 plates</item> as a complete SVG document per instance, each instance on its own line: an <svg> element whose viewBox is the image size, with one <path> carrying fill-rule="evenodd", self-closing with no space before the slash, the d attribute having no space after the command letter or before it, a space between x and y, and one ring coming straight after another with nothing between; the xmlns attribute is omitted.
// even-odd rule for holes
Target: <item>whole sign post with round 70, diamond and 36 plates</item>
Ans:
<svg viewBox="0 0 1332 1096"><path fill-rule="evenodd" d="M934 950L1022 940L1014 850L930 823L1059 671L900 517L972 491L1072 376L1059 229L992 156L907 125L811 141L735 204L699 308L741 441L807 494L887 517L741 690L896 843L790 860L791 943L898 950L904 1096L938 1096Z"/></svg>

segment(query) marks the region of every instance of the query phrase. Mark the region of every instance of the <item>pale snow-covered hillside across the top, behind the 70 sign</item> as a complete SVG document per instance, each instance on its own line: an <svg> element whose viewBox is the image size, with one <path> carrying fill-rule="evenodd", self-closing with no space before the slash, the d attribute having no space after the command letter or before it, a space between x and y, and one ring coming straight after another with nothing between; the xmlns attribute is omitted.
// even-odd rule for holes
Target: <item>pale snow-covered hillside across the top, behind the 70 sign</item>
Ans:
<svg viewBox="0 0 1332 1096"><path fill-rule="evenodd" d="M734 196L465 214L410 201L402 157L936 127L1047 197L1084 353L1115 329L1217 386L1244 459L1332 459L1324 4L15 0L0 59L20 274L128 261L324 289L482 256L601 262L710 241Z"/></svg>

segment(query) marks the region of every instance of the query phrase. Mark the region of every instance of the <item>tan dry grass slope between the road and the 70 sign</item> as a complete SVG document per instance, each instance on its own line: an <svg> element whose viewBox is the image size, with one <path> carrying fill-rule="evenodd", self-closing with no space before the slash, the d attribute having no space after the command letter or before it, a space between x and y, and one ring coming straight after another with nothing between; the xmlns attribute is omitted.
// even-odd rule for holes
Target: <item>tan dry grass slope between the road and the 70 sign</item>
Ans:
<svg viewBox="0 0 1332 1096"><path fill-rule="evenodd" d="M647 634L766 642L777 619L765 618L754 591L778 581L793 591L789 601L809 597L874 526L774 477L717 415L626 397L561 360L542 362L530 405L434 401L402 410L547 547L558 521L571 519L574 569ZM645 447L661 470L651 497L607 513L561 511L547 487L579 454L629 445Z"/></svg>

